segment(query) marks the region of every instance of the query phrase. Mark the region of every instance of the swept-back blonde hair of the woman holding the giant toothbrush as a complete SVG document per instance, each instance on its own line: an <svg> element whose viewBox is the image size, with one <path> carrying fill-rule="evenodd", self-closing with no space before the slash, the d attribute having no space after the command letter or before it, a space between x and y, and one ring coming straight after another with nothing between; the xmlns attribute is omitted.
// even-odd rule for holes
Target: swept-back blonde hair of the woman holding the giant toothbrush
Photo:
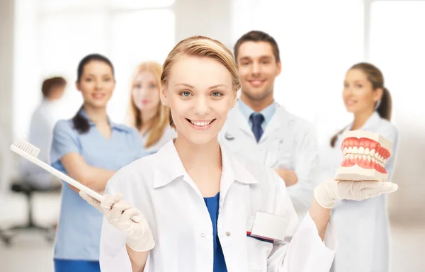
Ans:
<svg viewBox="0 0 425 272"><path fill-rule="evenodd" d="M176 59L181 55L188 55L193 57L208 57L213 60L217 60L223 64L232 74L232 87L234 92L241 87L239 76L237 74L237 64L234 60L232 52L225 47L218 40L213 40L204 36L193 36L181 40L174 48L169 52L166 57L164 64L162 65L162 76L161 85L166 87L169 82L171 73L171 67L173 66ZM171 111L169 113L169 121L171 128L176 128L174 125Z"/></svg>

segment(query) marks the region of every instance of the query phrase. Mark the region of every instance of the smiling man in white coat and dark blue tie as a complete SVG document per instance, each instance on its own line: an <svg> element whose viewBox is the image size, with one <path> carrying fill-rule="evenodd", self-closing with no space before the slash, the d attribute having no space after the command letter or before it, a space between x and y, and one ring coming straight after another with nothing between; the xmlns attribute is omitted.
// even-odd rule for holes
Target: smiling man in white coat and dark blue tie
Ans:
<svg viewBox="0 0 425 272"><path fill-rule="evenodd" d="M237 106L220 133L220 142L276 170L285 181L299 217L313 199L317 140L313 126L274 101L274 81L281 63L276 40L250 31L234 45L242 84Z"/></svg>

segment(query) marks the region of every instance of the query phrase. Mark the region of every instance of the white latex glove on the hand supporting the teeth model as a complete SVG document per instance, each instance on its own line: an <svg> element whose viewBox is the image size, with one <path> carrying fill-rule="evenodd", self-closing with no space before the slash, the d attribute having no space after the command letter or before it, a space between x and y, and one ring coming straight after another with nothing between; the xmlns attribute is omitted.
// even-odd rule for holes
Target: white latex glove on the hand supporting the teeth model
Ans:
<svg viewBox="0 0 425 272"><path fill-rule="evenodd" d="M314 198L323 208L331 209L338 200L361 201L382 193L392 193L397 189L397 184L390 182L329 180L314 188Z"/></svg>

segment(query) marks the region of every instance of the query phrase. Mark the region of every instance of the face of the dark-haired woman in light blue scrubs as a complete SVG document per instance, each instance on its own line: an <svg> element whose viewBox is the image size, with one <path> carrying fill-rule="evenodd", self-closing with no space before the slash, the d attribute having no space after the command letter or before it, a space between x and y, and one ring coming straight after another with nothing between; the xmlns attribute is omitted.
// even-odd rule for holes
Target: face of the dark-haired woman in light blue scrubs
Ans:
<svg viewBox="0 0 425 272"><path fill-rule="evenodd" d="M88 62L76 85L83 95L84 106L106 108L115 89L112 67L101 61Z"/></svg>

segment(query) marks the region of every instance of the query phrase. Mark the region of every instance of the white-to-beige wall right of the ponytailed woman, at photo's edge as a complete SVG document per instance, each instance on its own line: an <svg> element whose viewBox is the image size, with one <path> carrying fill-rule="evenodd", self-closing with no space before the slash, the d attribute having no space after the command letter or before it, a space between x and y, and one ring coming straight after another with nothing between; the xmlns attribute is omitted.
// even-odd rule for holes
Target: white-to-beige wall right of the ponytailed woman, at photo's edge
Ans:
<svg viewBox="0 0 425 272"><path fill-rule="evenodd" d="M385 75L399 129L399 191L390 196L390 212L425 222L425 35L418 35L425 31L425 1L375 1L370 11L370 61Z"/></svg>

